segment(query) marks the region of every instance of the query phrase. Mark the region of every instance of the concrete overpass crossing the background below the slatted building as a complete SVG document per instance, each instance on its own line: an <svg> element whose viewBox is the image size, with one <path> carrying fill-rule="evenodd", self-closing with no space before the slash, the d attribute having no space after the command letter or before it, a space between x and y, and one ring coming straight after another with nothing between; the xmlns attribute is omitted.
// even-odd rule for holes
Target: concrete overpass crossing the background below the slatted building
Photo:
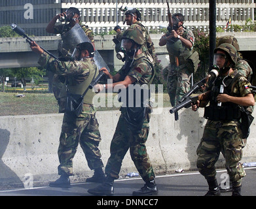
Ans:
<svg viewBox="0 0 256 209"><path fill-rule="evenodd" d="M217 33L217 37L223 35L234 35L240 44L240 52L244 58L255 63L253 55L256 52L256 32L244 33ZM158 42L162 34L151 34L156 48L158 59L161 60L163 67L169 63L168 52L165 46L158 46ZM112 41L114 35L97 35L95 37L96 49L109 66L109 69L119 70L123 62L117 59L115 55L115 44ZM39 45L43 46L52 54L56 54L58 44L61 38L58 36L33 37ZM57 55L57 54L56 54ZM14 67L37 67L39 55L31 52L29 44L22 37L18 38L0 38L0 69ZM256 66L256 63L255 63Z"/></svg>

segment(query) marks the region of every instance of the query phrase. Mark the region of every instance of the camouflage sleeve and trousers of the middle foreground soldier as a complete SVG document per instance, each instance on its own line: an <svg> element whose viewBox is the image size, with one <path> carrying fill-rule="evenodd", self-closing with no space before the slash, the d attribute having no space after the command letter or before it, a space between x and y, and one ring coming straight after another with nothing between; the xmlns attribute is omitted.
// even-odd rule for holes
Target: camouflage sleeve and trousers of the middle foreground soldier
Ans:
<svg viewBox="0 0 256 209"><path fill-rule="evenodd" d="M144 57L144 55L141 54L134 57L134 62L128 72L125 72L124 68L120 69L118 73L121 75L122 80L125 76L130 75L136 78L136 84L148 84L149 80L151 80L151 77L153 76L153 69L151 65L149 65L149 61L145 61L147 58L144 57L142 59L141 57ZM122 107L120 110L121 115L111 141L111 156L107 161L105 173L107 176L112 176L115 179L119 178L122 159L124 159L126 152L130 148L132 161L134 161L141 178L143 178L145 182L153 180L155 178L155 173L149 160L149 156L147 155L147 149L145 146L145 142L149 135L151 107L149 106L146 108L143 126L139 133L132 133L132 131L130 131L128 122L124 118L127 111L126 108Z"/></svg>

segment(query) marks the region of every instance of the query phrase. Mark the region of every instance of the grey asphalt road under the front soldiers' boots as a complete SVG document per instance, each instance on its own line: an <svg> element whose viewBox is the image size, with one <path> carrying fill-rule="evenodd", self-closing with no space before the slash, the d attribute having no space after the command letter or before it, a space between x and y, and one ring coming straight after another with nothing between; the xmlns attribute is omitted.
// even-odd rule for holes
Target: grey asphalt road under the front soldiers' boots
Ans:
<svg viewBox="0 0 256 209"><path fill-rule="evenodd" d="M256 167L246 168L246 177L242 181L242 195L243 196L256 196ZM217 179L219 184L223 184L227 179L226 170L217 171ZM170 175L157 176L156 184L158 186L158 195L149 196L147 200L167 201L170 196L184 197L184 196L204 196L208 191L208 185L204 177L198 172L180 172ZM31 189L11 189L0 191L0 196L88 196L95 204L104 204L104 200L124 200L123 204L127 206L127 199L132 200L132 191L143 187L143 180L141 178L124 178L115 181L115 195L111 197L95 197L90 195L87 190L96 187L96 183L75 183L69 188L56 188L56 187L33 187ZM232 193L221 193L222 196L230 196ZM123 196L123 197L121 197ZM125 196L125 197L124 197ZM130 196L130 197L128 197ZM143 197L145 199L145 197ZM99 202L101 201L101 202ZM109 202L105 202L109 204ZM145 202L144 202L145 203ZM153 201L151 201L153 204ZM149 202L147 203L149 204ZM160 204L158 202L157 204ZM120 204L119 204L120 206Z"/></svg>

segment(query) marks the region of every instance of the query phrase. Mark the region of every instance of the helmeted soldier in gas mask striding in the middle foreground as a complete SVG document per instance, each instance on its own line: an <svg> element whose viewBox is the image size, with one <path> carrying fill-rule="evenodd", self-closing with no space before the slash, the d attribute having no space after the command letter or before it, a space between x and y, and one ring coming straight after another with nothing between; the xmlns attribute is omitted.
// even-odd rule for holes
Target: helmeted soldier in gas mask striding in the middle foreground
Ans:
<svg viewBox="0 0 256 209"><path fill-rule="evenodd" d="M143 45L143 34L140 30L129 27L124 31L122 47L124 47L128 59L126 59L124 66L115 76L111 76L106 69L102 69L109 78L113 79L113 84L98 84L95 87L99 91L114 88L121 89L121 92L125 91L126 93L124 95L119 93L124 104L120 108L121 115L111 141L111 156L105 167L107 178L102 185L88 190L88 193L93 195L114 194L113 183L115 179L119 178L122 160L129 149L132 161L134 161L141 178L145 181L144 187L139 189L139 191L134 191L133 195L152 195L158 193L154 180L155 173L145 146L149 135L149 119L151 117L149 97L144 98L142 104L141 95L143 93L139 94L139 96L137 94L132 95L134 91L130 89L135 84L137 84L136 86L151 84L155 75L153 64L142 53L141 45ZM139 103L141 103L140 107L128 105L127 101L130 102L130 100L125 101L124 98L126 97L132 97L134 101L138 99Z"/></svg>

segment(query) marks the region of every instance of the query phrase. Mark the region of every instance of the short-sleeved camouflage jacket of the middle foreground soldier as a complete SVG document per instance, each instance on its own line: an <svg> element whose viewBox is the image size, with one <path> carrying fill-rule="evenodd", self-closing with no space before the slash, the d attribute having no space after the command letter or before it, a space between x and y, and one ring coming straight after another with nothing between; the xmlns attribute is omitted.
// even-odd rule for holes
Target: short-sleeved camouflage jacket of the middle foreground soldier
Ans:
<svg viewBox="0 0 256 209"><path fill-rule="evenodd" d="M150 84L155 76L155 71L153 65L144 56L144 54L139 54L134 57L132 66L130 66L132 60L126 59L124 66L117 72L121 76L121 80L124 80L126 76L132 76L136 78L135 84Z"/></svg>

